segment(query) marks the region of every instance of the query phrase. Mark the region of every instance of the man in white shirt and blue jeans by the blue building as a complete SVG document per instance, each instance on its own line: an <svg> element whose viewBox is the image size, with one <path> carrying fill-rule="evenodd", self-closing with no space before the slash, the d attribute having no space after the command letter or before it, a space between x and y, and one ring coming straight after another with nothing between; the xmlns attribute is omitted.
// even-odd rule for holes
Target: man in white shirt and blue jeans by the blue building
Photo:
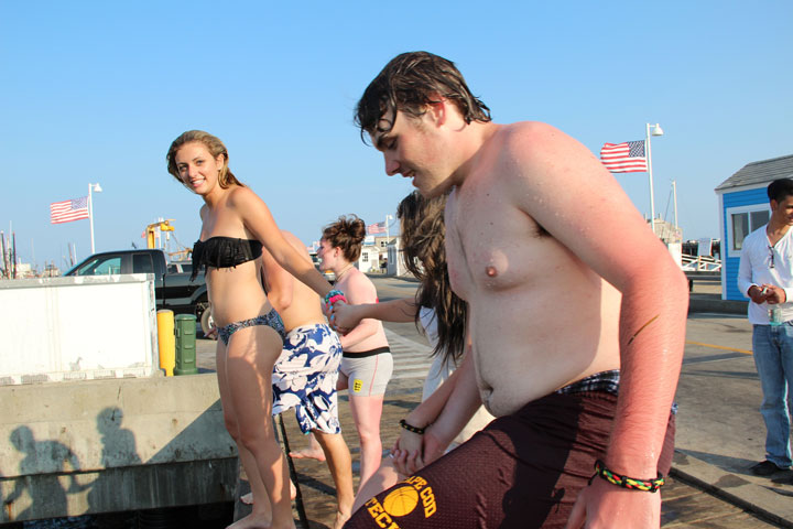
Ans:
<svg viewBox="0 0 793 529"><path fill-rule="evenodd" d="M751 467L758 476L791 466L793 409L793 180L771 182L768 196L771 219L743 239L738 272L738 288L751 299L752 350L763 391L765 461Z"/></svg>

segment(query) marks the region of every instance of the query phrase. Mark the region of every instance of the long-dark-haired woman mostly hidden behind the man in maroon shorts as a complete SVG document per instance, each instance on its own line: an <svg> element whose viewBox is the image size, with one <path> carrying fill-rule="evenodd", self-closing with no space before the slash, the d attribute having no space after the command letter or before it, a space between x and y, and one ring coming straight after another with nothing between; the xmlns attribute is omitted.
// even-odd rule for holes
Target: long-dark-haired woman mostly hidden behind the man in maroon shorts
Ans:
<svg viewBox="0 0 793 529"><path fill-rule="evenodd" d="M439 414L455 382L454 378L449 378L461 361L466 348L467 305L452 292L446 268L445 205L445 195L427 199L413 192L403 198L397 208L405 268L420 281L415 298L377 304L339 305L334 314L337 328L343 333L365 317L387 322L415 322L416 327L424 331L433 347L434 360L424 381L423 408L414 410L405 418L405 422L411 425L423 427ZM436 392L442 385L443 390ZM464 443L492 419L493 417L480 407L449 446ZM392 455L403 465L421 466L426 463L422 461L421 446L420 435L403 430ZM409 457L410 462L406 461ZM359 488L352 511L370 497L406 477L397 472L393 462L392 458L384 458L378 472Z"/></svg>

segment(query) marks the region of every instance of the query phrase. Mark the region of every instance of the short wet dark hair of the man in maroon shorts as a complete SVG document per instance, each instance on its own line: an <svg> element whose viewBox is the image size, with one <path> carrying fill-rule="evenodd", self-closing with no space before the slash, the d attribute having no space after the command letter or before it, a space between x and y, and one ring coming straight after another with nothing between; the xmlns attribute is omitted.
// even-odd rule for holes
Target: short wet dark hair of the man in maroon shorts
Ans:
<svg viewBox="0 0 793 529"><path fill-rule="evenodd" d="M397 110L421 117L427 105L439 102L438 96L452 101L466 123L490 121L490 109L471 94L452 61L428 52L409 52L392 58L358 101L355 122L361 139L366 142L368 134L391 130ZM393 119L383 126L382 117L391 110Z"/></svg>

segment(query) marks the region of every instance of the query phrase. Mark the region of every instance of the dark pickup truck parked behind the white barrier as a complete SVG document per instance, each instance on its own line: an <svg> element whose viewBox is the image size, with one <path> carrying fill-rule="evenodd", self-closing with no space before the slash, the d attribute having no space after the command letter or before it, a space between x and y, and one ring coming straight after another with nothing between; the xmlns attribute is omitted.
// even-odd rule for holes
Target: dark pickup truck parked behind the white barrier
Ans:
<svg viewBox="0 0 793 529"><path fill-rule="evenodd" d="M165 253L157 249L104 251L95 253L72 267L64 276L105 276L115 273L154 274L154 298L157 309L174 314L195 314L207 333L210 311L204 274L191 281L193 264L189 261L167 263Z"/></svg>

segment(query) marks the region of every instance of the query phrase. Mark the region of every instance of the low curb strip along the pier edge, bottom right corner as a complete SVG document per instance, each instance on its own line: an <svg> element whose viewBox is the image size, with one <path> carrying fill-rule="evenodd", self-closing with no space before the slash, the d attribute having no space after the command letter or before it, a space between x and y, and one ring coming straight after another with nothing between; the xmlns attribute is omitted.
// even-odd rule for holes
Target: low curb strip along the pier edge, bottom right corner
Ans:
<svg viewBox="0 0 793 529"><path fill-rule="evenodd" d="M793 501L784 500L773 490L681 451L675 451L672 475L780 527L793 528Z"/></svg>

